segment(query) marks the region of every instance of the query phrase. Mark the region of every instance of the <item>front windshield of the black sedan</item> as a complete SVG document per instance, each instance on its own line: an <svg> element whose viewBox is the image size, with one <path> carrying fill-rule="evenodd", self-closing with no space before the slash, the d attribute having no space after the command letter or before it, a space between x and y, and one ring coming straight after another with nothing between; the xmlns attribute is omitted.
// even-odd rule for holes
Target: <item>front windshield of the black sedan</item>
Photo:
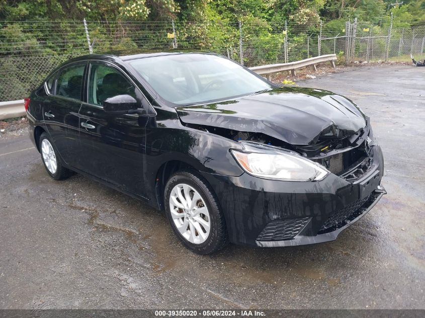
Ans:
<svg viewBox="0 0 425 318"><path fill-rule="evenodd" d="M165 100L199 104L271 89L239 64L210 54L176 54L129 61Z"/></svg>

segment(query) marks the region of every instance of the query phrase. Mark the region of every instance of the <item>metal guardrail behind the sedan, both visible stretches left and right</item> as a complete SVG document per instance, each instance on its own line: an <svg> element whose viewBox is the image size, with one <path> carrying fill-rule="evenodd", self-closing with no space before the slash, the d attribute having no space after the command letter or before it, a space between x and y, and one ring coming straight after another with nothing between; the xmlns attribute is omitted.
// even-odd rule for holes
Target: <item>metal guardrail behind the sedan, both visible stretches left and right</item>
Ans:
<svg viewBox="0 0 425 318"><path fill-rule="evenodd" d="M266 75L267 79L270 80L270 74L291 71L292 75L295 76L295 70L312 65L314 70L316 64L323 62L330 62L335 67L336 55L328 54L316 57L311 57L305 60L282 63L282 64L269 64L263 66L250 67L250 69L257 74ZM25 115L24 99L12 100L12 101L0 101L0 120L7 118L20 117Z"/></svg>

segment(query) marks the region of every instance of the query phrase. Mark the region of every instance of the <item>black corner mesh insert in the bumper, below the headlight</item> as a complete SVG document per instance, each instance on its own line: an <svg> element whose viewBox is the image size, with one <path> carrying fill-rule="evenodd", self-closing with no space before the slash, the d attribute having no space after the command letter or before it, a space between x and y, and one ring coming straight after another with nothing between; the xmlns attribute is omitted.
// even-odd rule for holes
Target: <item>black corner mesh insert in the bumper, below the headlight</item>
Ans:
<svg viewBox="0 0 425 318"><path fill-rule="evenodd" d="M289 240L301 232L310 218L276 220L267 224L257 241Z"/></svg>

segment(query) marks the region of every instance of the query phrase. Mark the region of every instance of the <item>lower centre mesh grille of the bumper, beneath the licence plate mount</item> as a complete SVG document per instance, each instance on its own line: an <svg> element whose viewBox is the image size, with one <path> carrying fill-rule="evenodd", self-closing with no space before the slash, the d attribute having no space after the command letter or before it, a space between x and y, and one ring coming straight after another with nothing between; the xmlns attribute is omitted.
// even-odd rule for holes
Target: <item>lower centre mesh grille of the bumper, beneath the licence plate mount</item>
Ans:
<svg viewBox="0 0 425 318"><path fill-rule="evenodd" d="M318 234L334 231L354 220L362 213L363 206L371 198L371 196L372 194L369 194L364 199L357 200L353 203L350 203L343 209L336 211L323 223Z"/></svg>

